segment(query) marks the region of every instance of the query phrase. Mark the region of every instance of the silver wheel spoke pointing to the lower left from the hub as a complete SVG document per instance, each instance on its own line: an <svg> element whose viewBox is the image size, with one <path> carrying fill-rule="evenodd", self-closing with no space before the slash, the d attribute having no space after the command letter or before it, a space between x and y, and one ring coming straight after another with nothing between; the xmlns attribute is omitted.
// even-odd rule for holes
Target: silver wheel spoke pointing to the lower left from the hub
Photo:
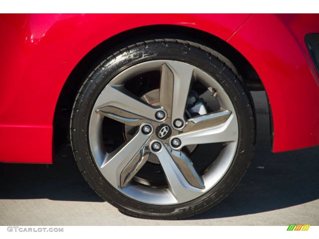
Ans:
<svg viewBox="0 0 319 239"><path fill-rule="evenodd" d="M139 130L130 141L106 155L100 170L114 187L127 185L146 162L145 145L150 137Z"/></svg>

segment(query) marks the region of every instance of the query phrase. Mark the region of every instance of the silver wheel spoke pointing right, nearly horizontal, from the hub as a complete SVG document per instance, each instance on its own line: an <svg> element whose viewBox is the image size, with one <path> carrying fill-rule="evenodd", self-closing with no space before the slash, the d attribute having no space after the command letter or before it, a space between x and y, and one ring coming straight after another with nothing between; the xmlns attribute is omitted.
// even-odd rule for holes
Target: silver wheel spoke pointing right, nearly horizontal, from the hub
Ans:
<svg viewBox="0 0 319 239"><path fill-rule="evenodd" d="M237 141L236 118L230 111L219 111L190 119L178 138L182 141L179 148L190 144Z"/></svg>

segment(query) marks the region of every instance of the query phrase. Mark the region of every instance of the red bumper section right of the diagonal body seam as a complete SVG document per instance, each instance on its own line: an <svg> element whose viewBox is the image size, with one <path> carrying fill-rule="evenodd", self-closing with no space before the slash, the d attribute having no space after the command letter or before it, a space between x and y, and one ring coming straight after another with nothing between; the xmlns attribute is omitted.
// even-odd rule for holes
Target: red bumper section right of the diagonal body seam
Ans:
<svg viewBox="0 0 319 239"><path fill-rule="evenodd" d="M228 40L263 82L274 152L319 144L319 80L304 43L307 33L319 33L319 14L253 14Z"/></svg>

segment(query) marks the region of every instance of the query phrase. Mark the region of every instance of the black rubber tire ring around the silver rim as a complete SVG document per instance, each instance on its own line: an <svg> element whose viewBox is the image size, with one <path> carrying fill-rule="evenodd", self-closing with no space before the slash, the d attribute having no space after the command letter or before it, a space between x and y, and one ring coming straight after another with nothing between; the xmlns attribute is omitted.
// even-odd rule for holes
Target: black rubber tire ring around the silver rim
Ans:
<svg viewBox="0 0 319 239"><path fill-rule="evenodd" d="M175 205L151 205L124 195L101 174L90 148L88 125L94 102L120 72L141 62L173 60L193 65L223 87L237 114L239 139L232 163L220 181L204 195ZM172 39L148 40L108 56L89 74L76 97L70 123L75 160L85 180L101 198L125 214L148 219L179 219L199 214L224 199L240 182L254 152L253 102L234 65L216 51L194 42Z"/></svg>

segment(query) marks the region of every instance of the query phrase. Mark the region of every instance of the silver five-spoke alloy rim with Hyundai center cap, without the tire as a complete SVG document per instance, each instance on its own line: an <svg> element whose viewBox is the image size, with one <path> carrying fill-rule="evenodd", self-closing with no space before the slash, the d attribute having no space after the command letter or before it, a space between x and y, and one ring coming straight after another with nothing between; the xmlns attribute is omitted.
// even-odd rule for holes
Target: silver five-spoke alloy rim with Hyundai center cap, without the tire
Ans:
<svg viewBox="0 0 319 239"><path fill-rule="evenodd" d="M134 76L150 69L160 72L157 106L143 102L124 87ZM207 100L217 100L220 108L187 119L187 100L195 81L207 86L202 95L208 95ZM210 87L218 93L217 97L207 94ZM110 153L105 152L100 138L103 117L138 129L132 139ZM212 76L187 63L157 60L132 66L108 83L93 106L89 138L95 162L111 185L133 199L168 205L196 199L219 181L234 157L238 126L229 97ZM216 161L199 175L182 148L218 142L226 144L224 154L216 159L220 163ZM166 189L141 187L133 180L151 153L163 168Z"/></svg>

